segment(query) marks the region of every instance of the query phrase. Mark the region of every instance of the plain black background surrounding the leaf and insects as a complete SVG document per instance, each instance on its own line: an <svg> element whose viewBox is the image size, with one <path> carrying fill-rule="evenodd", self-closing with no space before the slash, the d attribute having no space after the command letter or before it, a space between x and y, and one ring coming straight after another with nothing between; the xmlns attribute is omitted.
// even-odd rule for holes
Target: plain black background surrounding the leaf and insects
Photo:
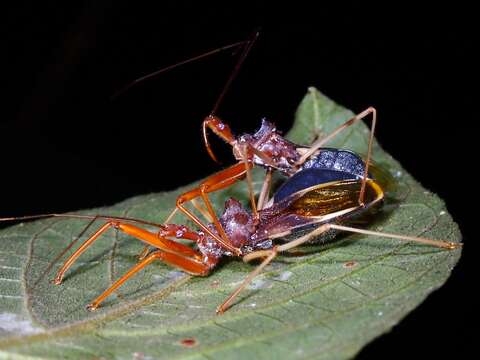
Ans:
<svg viewBox="0 0 480 360"><path fill-rule="evenodd" d="M21 3L2 11L0 216L74 211L170 190L218 170L200 124L234 57L198 61L115 101L136 77L261 37L218 112L237 133L261 117L287 130L308 86L379 112L377 138L446 200L466 246L447 284L360 358L464 354L477 192L473 9L314 6L311 2ZM218 146L216 147L218 149ZM228 149L226 149L228 150ZM225 162L232 162L228 151ZM472 291L470 289L472 288Z"/></svg>

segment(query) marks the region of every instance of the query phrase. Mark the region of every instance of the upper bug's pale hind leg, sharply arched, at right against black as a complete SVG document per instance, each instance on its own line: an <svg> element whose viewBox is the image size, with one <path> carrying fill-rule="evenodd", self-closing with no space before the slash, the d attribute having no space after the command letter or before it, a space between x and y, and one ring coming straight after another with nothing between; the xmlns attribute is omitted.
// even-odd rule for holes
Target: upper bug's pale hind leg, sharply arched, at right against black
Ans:
<svg viewBox="0 0 480 360"><path fill-rule="evenodd" d="M362 187L360 190L360 194L358 197L358 203L363 206L363 200L365 196L365 186L366 186L366 180L368 177L368 166L370 163L370 158L371 158L371 153L372 153L372 143L373 143L373 137L375 133L375 126L377 123L377 111L373 107L369 107L368 109L362 111L360 114L355 115L353 118L347 120L345 123L340 125L338 128L336 128L331 134L327 135L326 137L319 139L315 141L309 150L305 152L300 159L297 161L296 165L301 166L312 154L314 154L318 149L320 149L324 144L326 144L329 140L334 138L335 136L338 135L342 130L348 128L349 126L353 125L357 121L360 121L361 119L365 118L369 114L372 114L372 128L370 130L370 138L368 141L368 154L367 154L367 161L365 163L365 172L362 180Z"/></svg>

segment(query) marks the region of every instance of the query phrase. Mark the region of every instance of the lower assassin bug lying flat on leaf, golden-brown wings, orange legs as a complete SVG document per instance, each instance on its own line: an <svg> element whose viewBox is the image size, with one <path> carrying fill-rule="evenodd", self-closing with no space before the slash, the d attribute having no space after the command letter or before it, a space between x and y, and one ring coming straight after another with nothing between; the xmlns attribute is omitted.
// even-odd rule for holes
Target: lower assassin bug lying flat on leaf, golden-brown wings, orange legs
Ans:
<svg viewBox="0 0 480 360"><path fill-rule="evenodd" d="M360 233L379 237L428 244L444 249L456 249L460 243L432 240L427 238L405 236L369 231L347 226L351 220L365 215L381 206L385 194L383 187L373 177L362 177L366 163L356 154L347 150L326 149L328 157L336 156L337 162L326 162L321 156L311 168L297 172L287 179L275 192L269 203L258 210L258 217L242 207L239 201L231 198L225 202L225 210L220 216L220 223L227 234L228 243L237 249L244 261L263 258L261 264L245 278L242 284L220 305L217 313L223 313L232 304L235 297L258 275L280 252L290 250L301 244L320 239L326 241L338 231ZM341 166L339 166L341 165ZM339 169L341 168L341 169ZM248 181L248 179L247 179ZM363 190L362 205L359 197ZM96 220L106 219L93 235L65 261L58 271L54 283L60 284L65 272L78 257L91 246L109 228L118 229L140 241L152 246L154 250L138 261L129 271L118 279L110 288L98 296L87 308L95 310L112 292L125 281L155 260L163 261L187 273L206 276L224 256L238 256L203 231L194 231L184 225L155 224L142 220L108 217L85 216L74 214L50 214L38 217L80 217ZM31 219L33 217L3 220ZM147 231L132 222L158 227L158 232ZM215 232L213 223L205 224ZM196 249L173 239L184 239L196 244ZM281 245L274 240L283 239Z"/></svg>

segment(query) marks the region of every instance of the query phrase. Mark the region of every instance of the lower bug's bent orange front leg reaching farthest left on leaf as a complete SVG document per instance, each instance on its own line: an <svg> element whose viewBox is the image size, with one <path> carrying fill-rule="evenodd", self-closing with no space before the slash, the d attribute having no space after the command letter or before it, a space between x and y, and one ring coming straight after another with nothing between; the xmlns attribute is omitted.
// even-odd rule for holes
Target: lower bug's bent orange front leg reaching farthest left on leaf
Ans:
<svg viewBox="0 0 480 360"><path fill-rule="evenodd" d="M157 249L189 257L199 262L203 261L203 255L199 252L193 250L186 245L177 243L164 237L176 236L178 238L189 240L199 239L199 235L197 233L188 230L186 227L177 226L177 228L174 228L174 226L177 225L170 225L170 227L166 226L162 230L160 230L158 234L154 234L131 224L122 223L119 221L108 221L92 236L85 240L85 242L65 261L62 268L58 271L57 276L54 279L54 283L57 285L60 284L63 280L65 272L70 268L70 266L72 266L72 264L77 260L77 258L110 227L119 229L126 234L132 235L133 237L143 241L144 243L147 243L148 245L154 246Z"/></svg>

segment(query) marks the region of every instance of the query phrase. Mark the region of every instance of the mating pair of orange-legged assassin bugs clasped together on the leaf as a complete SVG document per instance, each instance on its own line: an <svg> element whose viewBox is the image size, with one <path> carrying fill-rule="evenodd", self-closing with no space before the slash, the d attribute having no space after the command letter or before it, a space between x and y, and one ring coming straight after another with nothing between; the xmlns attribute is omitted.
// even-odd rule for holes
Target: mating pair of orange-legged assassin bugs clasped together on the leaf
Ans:
<svg viewBox="0 0 480 360"><path fill-rule="evenodd" d="M250 41L224 47L245 46L235 71L230 76L212 114L216 111L255 37ZM347 150L322 148L324 143L338 132L368 114L373 115L373 123L366 161ZM229 127L218 117L208 116L203 122L203 131L210 155L214 157L207 141L207 129L213 130L214 133L232 145L234 155L239 162L212 175L203 181L199 187L180 195L177 199L176 209L180 209L193 220L199 228L198 231L189 229L184 225L169 224L169 220L165 221L164 224L157 224L139 219L110 216L47 214L0 220L23 220L49 216L86 218L90 219L91 223L97 219L106 220L105 224L88 237L65 261L54 279L55 284L62 282L65 272L71 265L109 228L131 235L145 243L149 248L153 248L151 251L148 251L148 249L144 251L136 265L89 304L88 308L90 310L95 310L119 286L155 260L161 260L193 275L205 276L215 268L224 256L243 257L245 261L263 258L261 264L217 308L217 312L222 313L228 309L238 293L279 252L287 251L317 238L328 239L337 231L390 237L445 249L455 249L461 246L458 243L380 233L347 226L351 220L381 206L384 199L382 185L369 172L375 117L375 110L369 108L348 120L327 137L305 147L295 145L284 139L276 132L273 125L266 122L262 124L262 128L256 134L247 134L235 138ZM267 169L267 176L258 203L255 201L250 177L250 169L255 164ZM272 198L268 199L273 170L282 172L288 178ZM229 199L225 203L225 210L222 215L217 218L208 200L208 193L224 189L243 177L247 178L252 211L249 212L244 209L237 200ZM202 197L206 209L196 202L197 197ZM189 201L207 221L202 221L185 207L185 203ZM174 213L175 211L172 215ZM171 219L171 216L169 219ZM145 230L139 225L156 227L158 232ZM196 247L187 246L176 241L176 239L192 241ZM285 242L276 245L274 243L275 239L284 239Z"/></svg>

